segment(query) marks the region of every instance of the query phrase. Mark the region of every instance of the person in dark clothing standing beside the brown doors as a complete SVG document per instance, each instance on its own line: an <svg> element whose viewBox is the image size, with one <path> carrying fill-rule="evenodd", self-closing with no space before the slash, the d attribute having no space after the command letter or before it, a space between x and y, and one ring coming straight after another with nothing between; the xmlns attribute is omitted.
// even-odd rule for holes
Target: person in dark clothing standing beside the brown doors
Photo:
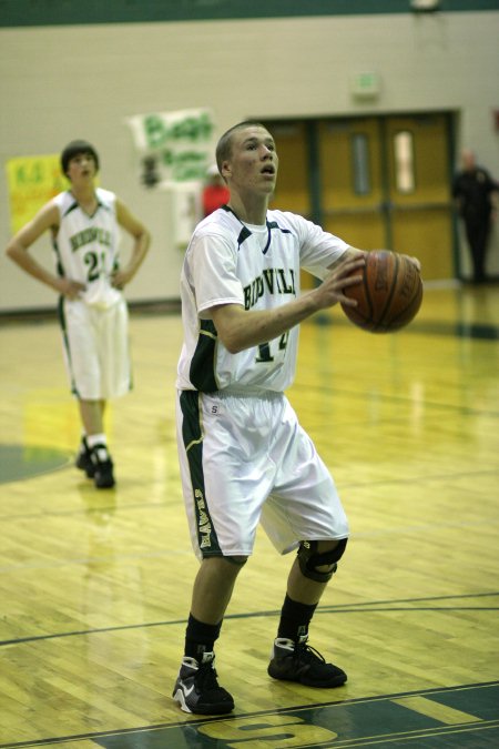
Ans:
<svg viewBox="0 0 499 749"><path fill-rule="evenodd" d="M475 153L469 149L461 152L461 171L452 183L452 196L457 210L465 224L473 269L473 282L486 281L487 245L490 237L491 219L495 209L499 183L489 172L478 166Z"/></svg>

